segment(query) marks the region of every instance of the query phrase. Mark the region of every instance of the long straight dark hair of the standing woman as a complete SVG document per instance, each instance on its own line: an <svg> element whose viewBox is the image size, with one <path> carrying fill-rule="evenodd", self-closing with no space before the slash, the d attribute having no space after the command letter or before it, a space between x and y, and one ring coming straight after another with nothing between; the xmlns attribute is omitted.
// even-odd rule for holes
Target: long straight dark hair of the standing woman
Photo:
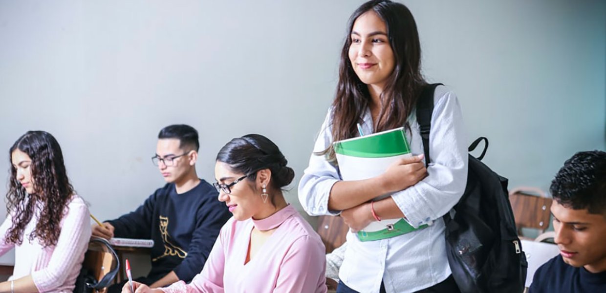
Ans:
<svg viewBox="0 0 606 293"><path fill-rule="evenodd" d="M421 74L421 42L415 18L406 6L388 0L373 0L362 4L348 22L348 33L341 50L339 65L339 83L333 101L332 138L333 142L355 137L356 124L371 102L368 87L360 81L349 59L351 30L359 16L373 10L385 22L387 36L395 59L395 67L385 83L381 94L381 111L375 125L375 131L385 131L398 127L409 127L408 116L422 87L427 82ZM331 162L335 160L332 145L319 154L327 155Z"/></svg>

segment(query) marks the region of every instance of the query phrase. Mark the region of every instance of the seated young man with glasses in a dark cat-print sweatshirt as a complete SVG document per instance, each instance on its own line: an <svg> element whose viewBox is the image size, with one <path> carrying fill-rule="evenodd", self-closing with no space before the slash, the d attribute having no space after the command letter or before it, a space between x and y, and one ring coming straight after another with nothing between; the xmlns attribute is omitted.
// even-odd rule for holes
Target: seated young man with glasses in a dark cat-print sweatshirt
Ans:
<svg viewBox="0 0 606 293"><path fill-rule="evenodd" d="M152 239L151 271L136 279L158 288L176 281L189 282L202 271L219 230L231 217L218 193L196 174L198 131L188 125L170 125L158 134L151 158L167 182L135 211L92 225L93 235L110 239ZM121 292L121 284L108 292Z"/></svg>

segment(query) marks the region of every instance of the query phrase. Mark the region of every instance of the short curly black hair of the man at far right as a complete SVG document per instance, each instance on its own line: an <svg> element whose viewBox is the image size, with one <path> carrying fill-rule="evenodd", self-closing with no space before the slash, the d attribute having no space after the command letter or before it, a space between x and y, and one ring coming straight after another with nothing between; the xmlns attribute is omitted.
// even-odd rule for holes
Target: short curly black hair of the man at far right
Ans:
<svg viewBox="0 0 606 293"><path fill-rule="evenodd" d="M606 216L606 152L574 154L551 181L549 190L561 205Z"/></svg>

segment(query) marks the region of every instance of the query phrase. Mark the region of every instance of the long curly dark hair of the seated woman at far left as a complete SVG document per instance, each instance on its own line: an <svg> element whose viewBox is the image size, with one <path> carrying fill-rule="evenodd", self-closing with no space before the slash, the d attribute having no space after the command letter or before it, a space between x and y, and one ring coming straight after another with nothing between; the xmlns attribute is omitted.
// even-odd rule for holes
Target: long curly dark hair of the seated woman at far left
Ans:
<svg viewBox="0 0 606 293"><path fill-rule="evenodd" d="M57 244L61 234L61 219L68 201L74 194L65 172L61 146L50 133L28 131L13 144L8 153L9 161L13 151L19 150L32 159L33 194L27 194L11 164L8 184L7 212L12 216L13 225L8 229L5 240L21 245L25 226L35 213L36 206L41 207L36 229L29 240L39 239L44 247Z"/></svg>

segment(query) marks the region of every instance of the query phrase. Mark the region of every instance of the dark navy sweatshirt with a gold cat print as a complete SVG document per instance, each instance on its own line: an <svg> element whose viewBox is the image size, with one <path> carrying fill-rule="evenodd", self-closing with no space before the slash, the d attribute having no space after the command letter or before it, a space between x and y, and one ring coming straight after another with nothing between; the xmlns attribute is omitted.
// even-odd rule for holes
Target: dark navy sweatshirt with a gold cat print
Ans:
<svg viewBox="0 0 606 293"><path fill-rule="evenodd" d="M135 211L108 221L115 237L152 239L151 271L159 280L175 271L186 282L202 271L221 227L231 217L216 189L201 182L178 194L174 183L159 188Z"/></svg>

